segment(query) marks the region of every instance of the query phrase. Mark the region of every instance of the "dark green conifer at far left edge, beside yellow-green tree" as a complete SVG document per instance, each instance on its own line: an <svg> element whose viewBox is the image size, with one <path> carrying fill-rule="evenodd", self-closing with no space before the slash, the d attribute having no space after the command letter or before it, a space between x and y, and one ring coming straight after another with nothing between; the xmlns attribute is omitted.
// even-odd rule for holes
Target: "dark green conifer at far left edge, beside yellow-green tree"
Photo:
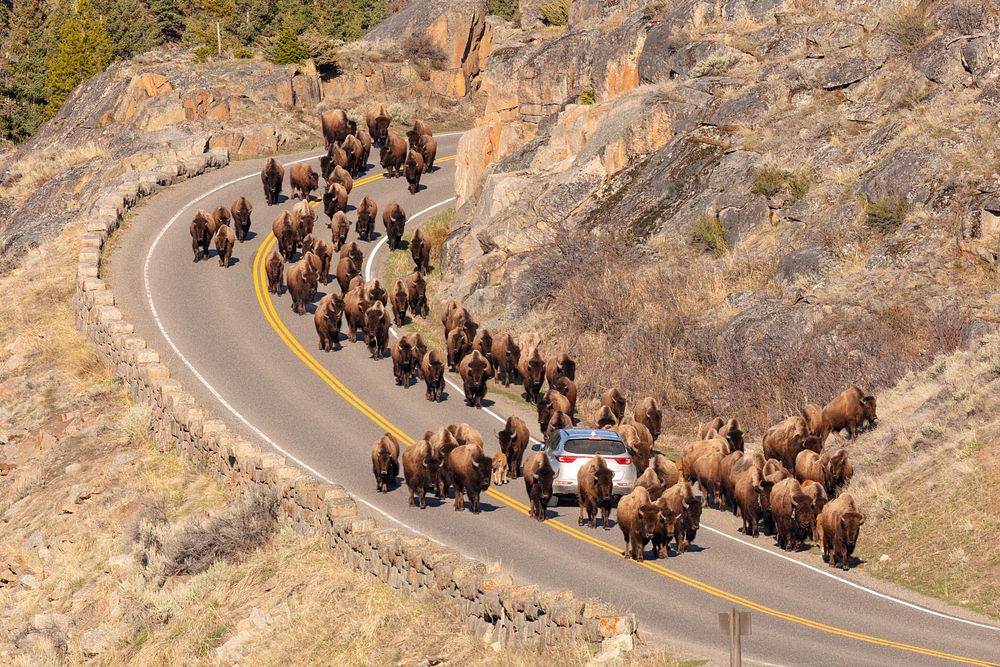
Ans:
<svg viewBox="0 0 1000 667"><path fill-rule="evenodd" d="M13 141L24 141L48 120L45 86L45 23L43 0L17 0L10 15L3 58L4 85L0 130Z"/></svg>

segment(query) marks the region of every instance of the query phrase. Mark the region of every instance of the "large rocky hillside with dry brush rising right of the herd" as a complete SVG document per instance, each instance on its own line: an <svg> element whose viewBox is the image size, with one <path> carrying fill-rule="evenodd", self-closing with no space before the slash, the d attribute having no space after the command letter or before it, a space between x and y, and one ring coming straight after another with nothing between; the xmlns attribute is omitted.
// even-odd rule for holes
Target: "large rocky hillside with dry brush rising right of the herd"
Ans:
<svg viewBox="0 0 1000 667"><path fill-rule="evenodd" d="M660 396L681 432L891 386L1000 320L998 24L988 0L498 24L445 296L543 330L591 396Z"/></svg>

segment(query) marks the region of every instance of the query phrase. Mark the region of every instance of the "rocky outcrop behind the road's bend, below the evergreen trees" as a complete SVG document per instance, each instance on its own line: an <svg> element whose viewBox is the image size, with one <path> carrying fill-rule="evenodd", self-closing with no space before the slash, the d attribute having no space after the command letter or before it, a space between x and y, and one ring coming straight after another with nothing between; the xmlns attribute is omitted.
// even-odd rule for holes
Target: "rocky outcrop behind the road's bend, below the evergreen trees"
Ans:
<svg viewBox="0 0 1000 667"><path fill-rule="evenodd" d="M400 123L419 115L438 129L465 127L491 34L482 3L415 3L345 45L332 74L311 62L198 63L178 47L114 65L29 141L0 153L0 272L100 194L134 196L137 182L144 192L158 188L160 165L177 156L193 175L320 145L318 113L330 105L360 118L384 103Z"/></svg>

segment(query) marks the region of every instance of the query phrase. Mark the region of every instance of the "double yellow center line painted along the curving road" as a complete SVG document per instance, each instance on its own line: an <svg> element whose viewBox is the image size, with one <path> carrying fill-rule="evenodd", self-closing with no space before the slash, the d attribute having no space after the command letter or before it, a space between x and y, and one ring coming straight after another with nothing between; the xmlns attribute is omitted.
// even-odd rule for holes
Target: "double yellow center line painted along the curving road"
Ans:
<svg viewBox="0 0 1000 667"><path fill-rule="evenodd" d="M437 162L448 162L454 160L454 155L445 156L439 158ZM383 178L383 174L376 174L373 176L367 176L365 178L355 181L354 187L361 187L369 183L373 183L379 179ZM319 202L316 202L317 204ZM274 247L276 239L273 234L268 234L267 238L261 244L260 248L257 250L257 254L254 257L253 265L253 276L254 276L254 290L257 294L257 301L260 304L261 311L264 313L264 317L271 328L278 334L278 337L282 342L292 351L292 353L298 357L302 363L304 363L313 373L315 373L323 382L325 382L338 396L344 399L348 405L352 406L356 410L364 414L368 419L375 423L379 429L384 430L387 433L394 435L403 446L410 446L416 442L413 438L408 436L401 428L393 424L386 417L377 412L370 405L361 400L356 394L354 394L350 389L348 389L344 384L336 378L329 370L327 370L322 364L320 364L313 356L310 354L305 347L292 335L285 326L285 323L281 320L275 310L274 303L271 300L271 294L267 291L267 274L265 271L265 258L270 250ZM486 495L490 498L507 505L511 509L520 512L521 514L528 515L529 507L524 503L516 500L506 493L503 493L495 487L491 487ZM590 533L584 532L577 528L576 526L571 526L561 521L550 519L545 521L543 526L557 530L573 539L585 542L593 547L596 547L602 551L606 551L609 554L613 554L616 557L621 557L622 548L618 545L611 544L604 540L594 537ZM801 616L796 616L787 612L783 612L777 609L772 609L763 604L748 600L744 597L730 593L728 591L716 588L710 584L699 581L688 577L680 572L672 570L668 567L664 567L659 563L652 561L643 561L641 563L630 561L631 563L646 568L651 572L655 572L667 579L671 579L675 582L689 586L691 588L697 589L708 595L725 600L732 604L738 604L746 607L747 609L772 616L790 623L795 623L813 630L819 630L820 632L825 632L832 635L837 635L839 637L845 637L847 639L854 639L857 641L865 642L868 644L874 644L877 646L885 646L892 649L898 649L900 651L906 651L909 653L916 653L920 655L929 656L932 658L939 658L941 660L948 660L951 662L957 662L967 665L981 665L982 667L1000 667L1000 664L989 662L986 660L978 660L975 658L968 658L965 656L954 655L951 653L945 653L943 651L936 651L934 649L923 648L920 646L913 646L910 644L904 644L901 642L895 642L888 639L882 639L880 637L873 637L871 635L862 634L859 632L852 632L850 630L844 630L842 628L837 628L832 625L827 625L825 623L820 623L818 621L813 621L808 618L803 618Z"/></svg>

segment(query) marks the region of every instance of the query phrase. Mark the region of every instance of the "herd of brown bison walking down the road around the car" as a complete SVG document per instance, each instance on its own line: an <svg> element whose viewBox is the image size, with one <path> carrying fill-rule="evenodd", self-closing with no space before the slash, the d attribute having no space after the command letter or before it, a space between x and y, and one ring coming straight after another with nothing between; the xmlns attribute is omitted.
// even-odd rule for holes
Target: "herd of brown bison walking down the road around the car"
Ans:
<svg viewBox="0 0 1000 667"><path fill-rule="evenodd" d="M523 387L522 396L537 410L538 426L546 440L555 431L574 426L578 422L576 364L565 353L543 357L537 334L517 339L510 333L493 335L481 328L464 306L451 300L444 304L441 315L444 354L428 350L417 333L400 332L390 350L392 320L402 326L408 313L411 317L429 315L425 275L430 271L430 239L420 229L414 233L409 242L414 267L406 278L396 280L388 289L377 278L366 282L362 275L364 252L357 241L348 241L347 200L354 179L368 168L373 144L379 149L386 176L402 171L410 193L416 193L423 172L433 167L437 142L422 121L417 121L405 138L390 132L392 119L382 107L368 113L366 120L367 131L343 109L321 115L327 146L320 160L326 181L322 202L329 217L330 241L314 232L317 216L311 196L319 189L320 175L308 164L290 167L292 198L301 201L291 211L279 213L272 225L277 247L265 260L268 290L280 294L284 282L292 309L304 314L318 283L329 284L332 273L340 294L325 295L314 314L321 350L340 348L346 322L349 341L356 342L360 332L372 359L382 359L388 352L396 383L409 387L422 379L430 401L443 399L447 368L461 376L470 406L481 407L488 380L506 387L518 383ZM269 206L280 201L284 173L274 158L261 172ZM235 243L247 238L252 210L246 197L228 209L199 210L190 225L194 261L208 257L214 239L220 266L229 266ZM368 196L356 206L359 241L373 239L377 212L376 202ZM406 220L406 212L397 202L384 207L382 222L390 250L402 247ZM300 259L291 263L298 251ZM662 422L656 400L647 397L638 401L629 414L626 404L619 390L610 389L601 396L600 407L588 422L622 438L639 474L631 493L617 503L624 556L643 560L650 542L655 557L666 557L671 542L674 553L683 553L698 531L702 508L710 504L740 516L746 535L757 537L762 530L773 533L777 545L786 550L797 550L805 540L812 540L822 546L831 567L849 567L865 519L851 495L843 492L853 475L847 451L830 453L824 445L832 433L846 429L856 438L862 429L874 427L874 397L849 387L823 407L808 404L800 414L767 429L761 448L753 451L745 449L737 420L716 418L699 427L697 440L681 448L677 461L653 451ZM472 512L478 513L479 496L491 483L499 485L522 476L530 515L544 521L555 477L549 456L538 451L525 457L529 430L516 416L507 420L498 440L500 451L490 458L484 453L485 442L478 431L468 424L452 424L428 431L401 455L398 440L387 433L371 450L377 489L387 492L395 484L401 456L411 506L425 508L428 491L444 499L453 489L456 510L464 508L465 494ZM593 528L600 515L604 529L610 528L612 480L613 474L600 455L580 468L580 525ZM700 496L695 495L695 485Z"/></svg>

